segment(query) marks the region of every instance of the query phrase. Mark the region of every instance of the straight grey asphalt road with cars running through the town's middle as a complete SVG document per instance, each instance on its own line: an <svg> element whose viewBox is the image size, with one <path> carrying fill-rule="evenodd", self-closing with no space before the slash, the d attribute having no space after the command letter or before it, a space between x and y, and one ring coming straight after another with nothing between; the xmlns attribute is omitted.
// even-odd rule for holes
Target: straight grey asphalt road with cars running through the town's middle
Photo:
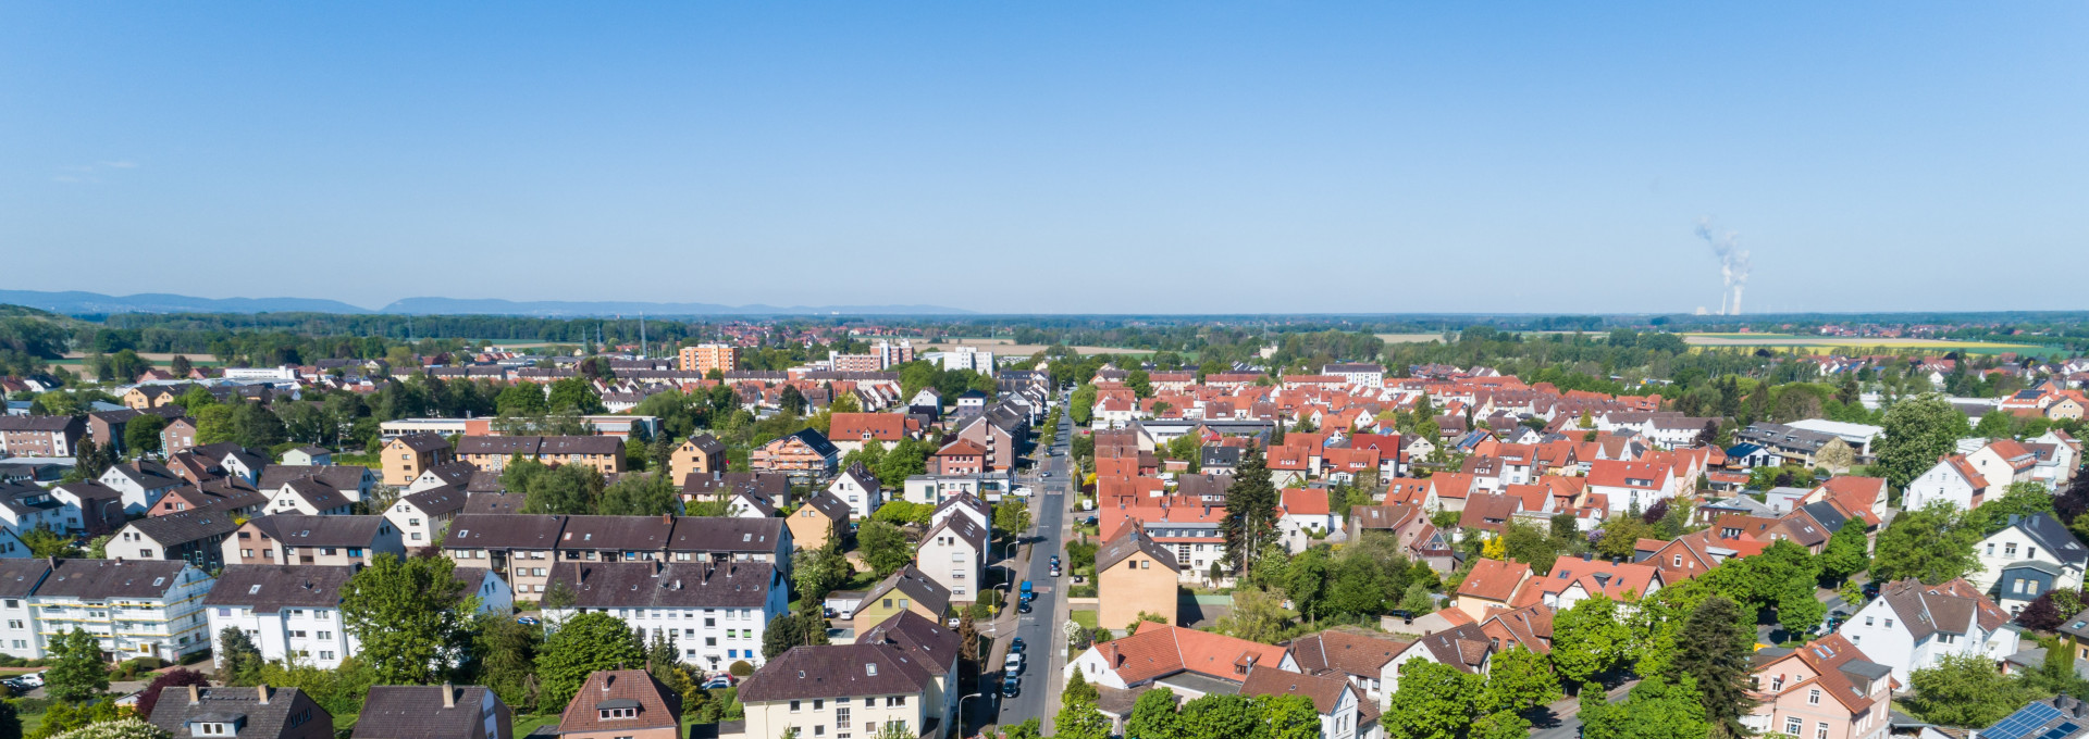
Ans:
<svg viewBox="0 0 2089 739"><path fill-rule="evenodd" d="M1051 555L1065 557L1067 488L1072 486L1065 453L1070 451L1072 432L1074 422L1061 418L1059 428L1053 430L1055 436L1049 440L1049 451L1059 451L1059 455L1044 457L1042 468L1051 476L1038 480L1030 497L1030 518L1036 528L1032 528L1024 545L1028 559L1013 559L1022 574L1009 591L1019 593L1022 580L1028 578L1038 595L1032 601L1032 612L1017 616L1015 624L1015 635L1024 639L1026 658L1032 662L1024 666L1022 693L1001 699L1001 716L994 718L1003 726L1038 718L1044 722L1047 737L1053 733L1053 714L1059 712L1059 674L1065 668L1065 633L1059 626L1067 622L1067 603L1061 597L1061 589L1065 589L1070 578L1051 576ZM1005 649L1007 643L996 643L994 653L999 655Z"/></svg>

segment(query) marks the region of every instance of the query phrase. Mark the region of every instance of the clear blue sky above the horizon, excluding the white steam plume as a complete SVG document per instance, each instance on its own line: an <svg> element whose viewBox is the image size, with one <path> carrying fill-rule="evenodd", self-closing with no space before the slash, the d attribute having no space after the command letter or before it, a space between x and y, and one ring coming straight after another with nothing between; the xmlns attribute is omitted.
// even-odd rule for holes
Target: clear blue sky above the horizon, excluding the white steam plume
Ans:
<svg viewBox="0 0 2089 739"><path fill-rule="evenodd" d="M4 2L0 284L2083 309L2083 2ZM1047 286L1061 286L1047 290Z"/></svg>

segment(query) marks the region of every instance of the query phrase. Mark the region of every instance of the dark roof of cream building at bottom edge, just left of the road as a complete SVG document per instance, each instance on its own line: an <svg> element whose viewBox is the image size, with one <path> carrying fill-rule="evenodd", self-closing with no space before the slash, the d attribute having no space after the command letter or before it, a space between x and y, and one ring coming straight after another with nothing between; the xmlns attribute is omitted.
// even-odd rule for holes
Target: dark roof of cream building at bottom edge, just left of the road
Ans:
<svg viewBox="0 0 2089 739"><path fill-rule="evenodd" d="M892 645L792 647L740 685L740 699L769 704L806 697L909 695L934 676Z"/></svg>

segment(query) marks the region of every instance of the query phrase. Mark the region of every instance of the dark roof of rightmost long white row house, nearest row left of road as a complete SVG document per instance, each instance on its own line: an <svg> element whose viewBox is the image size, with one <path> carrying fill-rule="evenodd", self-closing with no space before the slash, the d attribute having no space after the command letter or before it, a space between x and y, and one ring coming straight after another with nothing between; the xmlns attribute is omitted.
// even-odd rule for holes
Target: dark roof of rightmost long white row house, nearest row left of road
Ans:
<svg viewBox="0 0 2089 739"><path fill-rule="evenodd" d="M783 576L767 562L560 562L579 607L762 607Z"/></svg>

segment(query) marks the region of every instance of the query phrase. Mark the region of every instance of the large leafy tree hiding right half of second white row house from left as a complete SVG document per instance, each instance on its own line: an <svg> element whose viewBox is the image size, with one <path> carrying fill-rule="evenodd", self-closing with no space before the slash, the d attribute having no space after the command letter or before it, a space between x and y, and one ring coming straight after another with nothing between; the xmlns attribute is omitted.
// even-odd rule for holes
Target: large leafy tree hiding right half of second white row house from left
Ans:
<svg viewBox="0 0 2089 739"><path fill-rule="evenodd" d="M341 624L361 641L357 658L384 685L428 685L470 643L474 607L449 557L380 553L341 589Z"/></svg>

